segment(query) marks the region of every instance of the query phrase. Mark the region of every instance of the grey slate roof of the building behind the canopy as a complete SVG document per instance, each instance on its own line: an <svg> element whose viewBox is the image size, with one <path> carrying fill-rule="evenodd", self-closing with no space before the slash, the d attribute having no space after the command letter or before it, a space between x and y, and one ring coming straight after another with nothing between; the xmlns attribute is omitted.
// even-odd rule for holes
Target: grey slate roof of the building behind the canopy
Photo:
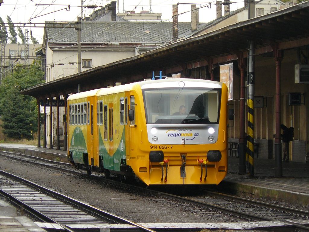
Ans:
<svg viewBox="0 0 309 232"><path fill-rule="evenodd" d="M51 23L51 22L45 22ZM54 22L53 22L54 23ZM68 22L62 22L68 23ZM53 28L46 24L44 37L49 43L76 43L74 28ZM191 23L179 23L179 35L188 32ZM83 22L82 43L167 43L172 40L172 22Z"/></svg>

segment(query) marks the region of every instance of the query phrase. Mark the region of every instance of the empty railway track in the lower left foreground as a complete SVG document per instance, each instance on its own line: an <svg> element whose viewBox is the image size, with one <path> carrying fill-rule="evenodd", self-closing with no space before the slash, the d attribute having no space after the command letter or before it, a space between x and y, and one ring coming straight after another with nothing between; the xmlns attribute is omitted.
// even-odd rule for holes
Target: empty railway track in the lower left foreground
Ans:
<svg viewBox="0 0 309 232"><path fill-rule="evenodd" d="M73 232L73 224L129 224L138 231L154 232L137 223L0 170L0 193L38 219Z"/></svg>

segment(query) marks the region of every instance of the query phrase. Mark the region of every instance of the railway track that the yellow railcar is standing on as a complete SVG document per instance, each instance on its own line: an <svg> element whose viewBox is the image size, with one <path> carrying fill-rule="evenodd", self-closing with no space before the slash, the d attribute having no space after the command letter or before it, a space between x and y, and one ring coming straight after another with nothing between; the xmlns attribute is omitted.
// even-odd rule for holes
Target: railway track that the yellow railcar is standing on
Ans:
<svg viewBox="0 0 309 232"><path fill-rule="evenodd" d="M10 158L11 158L11 155L12 154L9 154ZM23 155L18 155L18 156L23 156ZM20 157L15 157L15 158L20 159ZM28 161L30 161L32 158L27 156L27 159L29 159ZM37 161L30 161L30 162L38 164ZM50 167L64 171L63 168L55 167L57 166L57 163L59 162L46 161L43 159L42 163L44 162L49 163L49 164L44 164L44 165L49 165ZM52 164L50 164L50 162L52 162ZM68 172L87 176L87 174L85 174L85 171L83 171L84 173L77 172L77 171L68 171ZM102 180L102 176L92 176L91 175L91 178L99 178L100 180ZM104 179L104 181L111 182L108 179ZM130 188L130 185L126 185L123 183L116 183L116 185L125 186L125 188ZM136 186L132 188L134 188L134 191L137 190ZM205 193L207 193L207 195L203 195L202 197L197 197L197 198L187 198L187 197L181 197L178 195L172 195L167 192L160 192L160 191L154 191L154 190L142 189L142 188L138 188L138 189L139 189L138 191L148 191L148 192L152 192L153 194L160 194L161 196L165 198L186 202L186 204L193 204L193 205L197 205L198 207L203 207L207 209L210 208L218 212L225 212L227 214L237 215L237 217L243 220L246 220L246 221L274 221L276 220L276 221L286 222L288 224L293 224L297 228L301 228L303 230L309 231L309 227L307 227L306 224L293 222L293 221L299 222L303 220L308 220L309 212L307 211L282 207L282 206L273 205L273 204L267 204L267 203L263 203L260 201L243 199L243 198L239 198L239 197L235 197L231 195L216 194L214 192L209 192L209 191L204 191L204 190L201 190L201 191L204 191Z"/></svg>

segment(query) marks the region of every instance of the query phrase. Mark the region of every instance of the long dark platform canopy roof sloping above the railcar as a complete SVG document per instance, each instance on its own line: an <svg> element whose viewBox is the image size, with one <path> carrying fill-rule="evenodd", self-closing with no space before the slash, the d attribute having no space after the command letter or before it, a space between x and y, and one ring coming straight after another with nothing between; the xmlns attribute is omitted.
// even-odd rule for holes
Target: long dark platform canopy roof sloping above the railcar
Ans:
<svg viewBox="0 0 309 232"><path fill-rule="evenodd" d="M95 67L74 75L56 79L22 90L24 95L38 99L49 96L123 84L150 78L152 71L170 69L190 63L211 60L213 64L247 57L248 40L256 42L256 54L293 49L309 45L309 2L249 19L219 30L190 37L138 56Z"/></svg>

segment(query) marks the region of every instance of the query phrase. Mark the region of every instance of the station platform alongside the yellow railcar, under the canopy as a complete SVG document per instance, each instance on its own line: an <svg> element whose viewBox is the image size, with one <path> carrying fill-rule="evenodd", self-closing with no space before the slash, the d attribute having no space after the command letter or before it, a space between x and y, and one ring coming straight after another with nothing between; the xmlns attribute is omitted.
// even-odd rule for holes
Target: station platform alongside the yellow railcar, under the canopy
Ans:
<svg viewBox="0 0 309 232"><path fill-rule="evenodd" d="M0 144L0 150L16 151L51 160L67 161L67 151L24 144ZM227 193L309 204L309 163L282 162L282 177L275 177L273 159L255 159L254 177L238 174L239 158L228 157L226 178L216 188Z"/></svg>

